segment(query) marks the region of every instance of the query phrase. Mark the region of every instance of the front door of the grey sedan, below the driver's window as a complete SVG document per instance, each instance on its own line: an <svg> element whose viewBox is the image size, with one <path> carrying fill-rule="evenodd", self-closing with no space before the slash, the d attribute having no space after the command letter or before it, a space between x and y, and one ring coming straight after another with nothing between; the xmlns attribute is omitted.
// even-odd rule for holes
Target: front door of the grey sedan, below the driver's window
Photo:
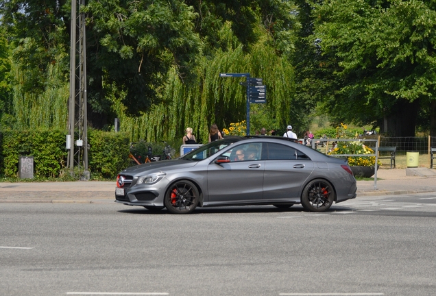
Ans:
<svg viewBox="0 0 436 296"><path fill-rule="evenodd" d="M254 160L238 160L237 151L256 149ZM237 145L221 154L228 156L230 162L208 166L208 202L238 204L263 198L263 171L265 160L261 160L262 143Z"/></svg>

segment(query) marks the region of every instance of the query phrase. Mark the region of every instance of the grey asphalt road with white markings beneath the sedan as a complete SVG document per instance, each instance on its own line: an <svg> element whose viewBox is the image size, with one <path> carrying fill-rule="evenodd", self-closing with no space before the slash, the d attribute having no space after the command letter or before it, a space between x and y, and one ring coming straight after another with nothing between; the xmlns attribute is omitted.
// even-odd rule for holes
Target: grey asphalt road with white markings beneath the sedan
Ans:
<svg viewBox="0 0 436 296"><path fill-rule="evenodd" d="M435 295L436 195L152 213L1 204L0 295Z"/></svg>

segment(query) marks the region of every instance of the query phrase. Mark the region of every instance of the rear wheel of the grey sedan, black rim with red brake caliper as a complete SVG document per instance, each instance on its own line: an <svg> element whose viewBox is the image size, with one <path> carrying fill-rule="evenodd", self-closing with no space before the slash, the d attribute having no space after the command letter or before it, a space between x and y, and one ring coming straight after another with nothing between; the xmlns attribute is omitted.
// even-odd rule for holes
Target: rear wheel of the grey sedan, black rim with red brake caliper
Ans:
<svg viewBox="0 0 436 296"><path fill-rule="evenodd" d="M301 204L310 212L324 212L332 206L335 200L335 190L332 184L322 179L308 182L304 187Z"/></svg>

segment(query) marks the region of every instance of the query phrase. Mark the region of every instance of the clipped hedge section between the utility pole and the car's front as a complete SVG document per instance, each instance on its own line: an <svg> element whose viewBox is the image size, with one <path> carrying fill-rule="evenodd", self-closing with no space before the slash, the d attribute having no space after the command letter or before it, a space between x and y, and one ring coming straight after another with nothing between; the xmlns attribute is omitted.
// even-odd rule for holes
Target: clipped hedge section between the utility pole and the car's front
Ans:
<svg viewBox="0 0 436 296"><path fill-rule="evenodd" d="M88 131L88 167L93 180L110 179L129 167L129 139L116 132Z"/></svg>

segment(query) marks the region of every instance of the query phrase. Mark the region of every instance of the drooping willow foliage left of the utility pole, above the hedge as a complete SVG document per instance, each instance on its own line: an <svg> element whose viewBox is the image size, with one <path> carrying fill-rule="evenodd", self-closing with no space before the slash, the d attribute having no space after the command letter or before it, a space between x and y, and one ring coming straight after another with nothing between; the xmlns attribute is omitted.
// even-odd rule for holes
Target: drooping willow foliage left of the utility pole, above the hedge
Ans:
<svg viewBox="0 0 436 296"><path fill-rule="evenodd" d="M12 115L16 129L57 129L66 127L69 82L64 60L68 53L58 53L47 66L32 64L29 52L45 52L32 38L24 38L12 53Z"/></svg>

